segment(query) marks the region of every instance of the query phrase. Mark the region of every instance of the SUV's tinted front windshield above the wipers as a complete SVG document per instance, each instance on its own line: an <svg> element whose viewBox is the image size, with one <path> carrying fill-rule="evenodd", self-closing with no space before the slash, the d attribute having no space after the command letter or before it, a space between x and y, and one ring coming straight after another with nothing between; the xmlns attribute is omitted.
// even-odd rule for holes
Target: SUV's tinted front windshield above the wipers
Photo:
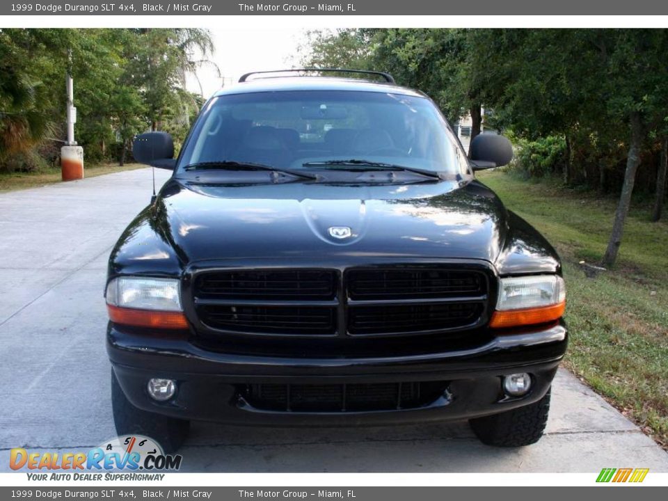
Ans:
<svg viewBox="0 0 668 501"><path fill-rule="evenodd" d="M376 163L376 168L468 172L463 152L431 101L345 90L216 97L202 111L179 170L218 162L293 171L346 169L349 160Z"/></svg>

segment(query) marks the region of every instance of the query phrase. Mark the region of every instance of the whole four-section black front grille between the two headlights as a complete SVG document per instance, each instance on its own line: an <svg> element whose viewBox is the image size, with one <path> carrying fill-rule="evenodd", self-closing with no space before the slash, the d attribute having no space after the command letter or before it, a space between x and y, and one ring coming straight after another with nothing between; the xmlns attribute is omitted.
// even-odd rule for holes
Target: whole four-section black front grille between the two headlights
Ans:
<svg viewBox="0 0 668 501"><path fill-rule="evenodd" d="M198 319L240 335L424 335L484 324L490 281L466 264L201 271Z"/></svg>

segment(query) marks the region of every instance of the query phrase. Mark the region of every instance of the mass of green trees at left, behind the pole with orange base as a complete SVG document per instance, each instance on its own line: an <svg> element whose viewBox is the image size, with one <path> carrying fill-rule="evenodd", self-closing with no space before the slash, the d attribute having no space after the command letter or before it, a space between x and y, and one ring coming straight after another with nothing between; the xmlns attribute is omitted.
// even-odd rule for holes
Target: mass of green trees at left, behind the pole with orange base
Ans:
<svg viewBox="0 0 668 501"><path fill-rule="evenodd" d="M150 126L174 131L178 143L202 102L186 92L186 75L213 64L212 51L202 29L0 29L0 170L47 165L45 145L63 138L67 67L88 161L118 151L122 164Z"/></svg>

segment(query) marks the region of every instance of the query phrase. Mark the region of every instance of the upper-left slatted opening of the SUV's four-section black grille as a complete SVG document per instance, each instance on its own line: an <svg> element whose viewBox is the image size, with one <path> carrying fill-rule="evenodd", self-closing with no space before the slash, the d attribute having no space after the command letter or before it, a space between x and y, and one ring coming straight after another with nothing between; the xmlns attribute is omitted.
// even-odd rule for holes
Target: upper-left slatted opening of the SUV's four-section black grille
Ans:
<svg viewBox="0 0 668 501"><path fill-rule="evenodd" d="M196 280L200 299L332 299L333 270L265 269L202 273Z"/></svg>

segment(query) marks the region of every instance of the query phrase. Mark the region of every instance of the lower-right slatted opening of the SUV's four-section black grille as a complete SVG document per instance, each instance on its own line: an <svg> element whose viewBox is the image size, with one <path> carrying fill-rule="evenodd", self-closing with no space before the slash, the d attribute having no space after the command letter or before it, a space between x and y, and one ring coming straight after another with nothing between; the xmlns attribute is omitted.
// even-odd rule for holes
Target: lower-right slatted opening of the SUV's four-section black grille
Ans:
<svg viewBox="0 0 668 501"><path fill-rule="evenodd" d="M348 331L352 335L445 331L474 324L482 303L358 306L351 308Z"/></svg>

